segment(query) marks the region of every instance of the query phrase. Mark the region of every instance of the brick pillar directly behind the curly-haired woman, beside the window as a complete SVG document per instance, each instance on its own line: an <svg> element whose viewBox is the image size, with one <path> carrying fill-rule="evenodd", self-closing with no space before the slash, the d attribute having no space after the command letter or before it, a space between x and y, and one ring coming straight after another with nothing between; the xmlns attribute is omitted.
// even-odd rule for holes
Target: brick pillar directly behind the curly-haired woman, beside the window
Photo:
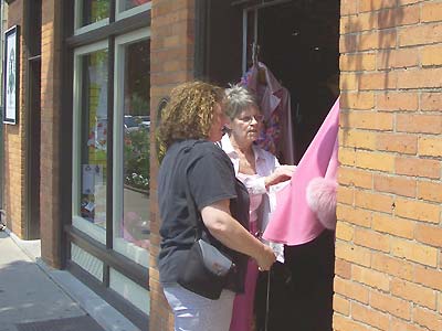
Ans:
<svg viewBox="0 0 442 331"><path fill-rule="evenodd" d="M157 256L159 226L157 203L158 162L154 132L157 108L162 97L179 83L193 79L194 0L152 0L150 41L150 325L151 331L173 330L173 318L159 285Z"/></svg>

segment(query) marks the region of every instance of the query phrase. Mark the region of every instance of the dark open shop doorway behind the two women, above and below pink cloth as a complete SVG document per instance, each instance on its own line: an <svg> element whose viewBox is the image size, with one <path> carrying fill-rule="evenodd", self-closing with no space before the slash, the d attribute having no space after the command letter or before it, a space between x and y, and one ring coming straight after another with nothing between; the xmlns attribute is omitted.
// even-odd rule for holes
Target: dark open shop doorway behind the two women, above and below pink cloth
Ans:
<svg viewBox="0 0 442 331"><path fill-rule="evenodd" d="M257 61L290 92L297 163L339 94L340 1L225 2L224 12L233 13L208 9L204 73L212 82L239 83L257 49ZM219 22L212 19L217 14ZM254 52L252 44L259 45ZM327 229L308 243L286 246L285 264L271 271L269 312L267 275L260 276L255 330L266 322L269 331L332 330L334 261L334 233Z"/></svg>

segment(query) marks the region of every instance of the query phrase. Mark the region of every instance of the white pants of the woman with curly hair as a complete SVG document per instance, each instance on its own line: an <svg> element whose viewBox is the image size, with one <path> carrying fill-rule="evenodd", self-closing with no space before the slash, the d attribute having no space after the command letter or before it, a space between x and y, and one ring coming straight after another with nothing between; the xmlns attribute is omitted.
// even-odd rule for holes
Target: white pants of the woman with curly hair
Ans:
<svg viewBox="0 0 442 331"><path fill-rule="evenodd" d="M183 287L168 286L165 296L175 314L175 331L229 331L235 293L223 290L218 300L207 299Z"/></svg>

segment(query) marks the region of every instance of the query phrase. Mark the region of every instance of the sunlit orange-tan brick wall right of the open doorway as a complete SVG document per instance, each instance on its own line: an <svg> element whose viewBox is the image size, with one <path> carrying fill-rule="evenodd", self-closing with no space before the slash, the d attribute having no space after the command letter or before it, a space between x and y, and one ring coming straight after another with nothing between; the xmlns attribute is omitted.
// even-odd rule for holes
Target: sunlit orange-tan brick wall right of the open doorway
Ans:
<svg viewBox="0 0 442 331"><path fill-rule="evenodd" d="M335 330L442 330L442 1L341 1Z"/></svg>

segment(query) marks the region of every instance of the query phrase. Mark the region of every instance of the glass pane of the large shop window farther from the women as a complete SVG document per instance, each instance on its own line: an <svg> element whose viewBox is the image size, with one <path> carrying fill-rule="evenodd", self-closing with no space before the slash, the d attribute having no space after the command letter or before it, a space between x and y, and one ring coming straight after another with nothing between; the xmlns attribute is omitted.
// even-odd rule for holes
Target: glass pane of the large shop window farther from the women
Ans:
<svg viewBox="0 0 442 331"><path fill-rule="evenodd" d="M106 227L107 50L81 56L80 211L77 215ZM74 159L75 162L75 159Z"/></svg>

